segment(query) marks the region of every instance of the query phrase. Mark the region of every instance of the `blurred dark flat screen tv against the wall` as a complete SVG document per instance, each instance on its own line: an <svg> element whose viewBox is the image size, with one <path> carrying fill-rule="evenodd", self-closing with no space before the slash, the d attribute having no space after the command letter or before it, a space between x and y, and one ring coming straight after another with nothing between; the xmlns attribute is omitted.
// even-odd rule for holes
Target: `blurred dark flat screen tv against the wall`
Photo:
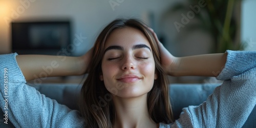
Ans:
<svg viewBox="0 0 256 128"><path fill-rule="evenodd" d="M11 23L12 52L56 55L71 43L69 21Z"/></svg>

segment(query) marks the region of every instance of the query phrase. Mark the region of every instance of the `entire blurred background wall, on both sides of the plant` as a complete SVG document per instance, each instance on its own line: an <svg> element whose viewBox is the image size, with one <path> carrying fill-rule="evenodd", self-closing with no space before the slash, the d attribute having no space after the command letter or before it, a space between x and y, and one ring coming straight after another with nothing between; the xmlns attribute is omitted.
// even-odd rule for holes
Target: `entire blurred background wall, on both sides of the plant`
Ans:
<svg viewBox="0 0 256 128"><path fill-rule="evenodd" d="M41 18L71 18L73 22L72 40L76 38L75 35L86 37L83 39L81 45L75 48L75 55L81 55L90 49L93 42L100 32L100 30L109 22L117 17L136 17L149 21L153 18L154 25L151 25L157 33L165 35L166 47L176 54L180 48L184 47L186 54L179 54L180 56L191 54L207 53L210 47L209 35L199 32L199 35L190 35L183 41L189 41L190 45L182 46L182 43L175 44L173 38L177 35L177 31L173 25L174 22L180 20L180 13L176 16L168 16L165 21L159 22L161 15L172 6L175 1L160 0L160 1L127 1L127 0L95 0L95 1L69 1L69 0L1 0L0 1L0 54L11 52L10 39L10 22L19 20L33 20ZM184 2L184 1L183 1ZM112 8L111 4L116 4ZM241 19L241 41L246 41L246 50L256 50L256 17L254 16L256 1L244 0L242 1L242 19ZM154 14L154 17L150 15ZM173 17L177 17L176 19ZM164 27L156 25L162 24ZM202 36L202 34L204 36ZM182 40L180 40L182 41ZM193 42L191 42L193 41ZM198 42L208 42L197 44ZM179 49L177 49L179 47ZM199 49L194 52L189 51L191 47ZM177 54L178 55L178 54Z"/></svg>

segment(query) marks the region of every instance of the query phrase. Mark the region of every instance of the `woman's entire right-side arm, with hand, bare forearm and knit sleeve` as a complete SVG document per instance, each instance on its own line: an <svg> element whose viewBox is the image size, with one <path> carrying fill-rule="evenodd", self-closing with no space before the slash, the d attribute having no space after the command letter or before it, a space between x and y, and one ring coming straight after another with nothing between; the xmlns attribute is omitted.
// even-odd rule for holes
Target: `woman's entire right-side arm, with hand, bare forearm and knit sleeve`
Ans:
<svg viewBox="0 0 256 128"><path fill-rule="evenodd" d="M256 104L255 51L174 57L153 34L167 74L218 76L218 80L225 80L205 102L183 108L180 118L170 127L242 127L245 122L244 126L253 122L248 116Z"/></svg>

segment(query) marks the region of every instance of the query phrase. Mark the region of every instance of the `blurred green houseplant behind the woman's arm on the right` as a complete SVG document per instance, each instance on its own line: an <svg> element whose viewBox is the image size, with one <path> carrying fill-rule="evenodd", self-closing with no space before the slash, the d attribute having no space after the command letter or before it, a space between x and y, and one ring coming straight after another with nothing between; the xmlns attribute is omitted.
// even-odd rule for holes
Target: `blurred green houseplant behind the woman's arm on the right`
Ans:
<svg viewBox="0 0 256 128"><path fill-rule="evenodd" d="M228 49L243 50L245 48L244 43L240 41L240 8L241 1L190 0L186 4L181 2L174 4L168 13L194 11L195 18L200 20L199 24L188 24L186 27L179 23L174 25L176 28L184 27L183 31L201 29L210 33L215 42L212 52L220 53Z"/></svg>

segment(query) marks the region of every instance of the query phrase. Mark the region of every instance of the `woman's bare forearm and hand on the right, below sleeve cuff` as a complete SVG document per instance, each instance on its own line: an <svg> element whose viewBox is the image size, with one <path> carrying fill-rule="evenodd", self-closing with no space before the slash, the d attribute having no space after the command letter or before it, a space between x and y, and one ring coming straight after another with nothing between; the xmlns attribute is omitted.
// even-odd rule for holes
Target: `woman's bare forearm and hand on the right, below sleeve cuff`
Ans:
<svg viewBox="0 0 256 128"><path fill-rule="evenodd" d="M226 53L175 57L164 48L153 29L149 29L158 43L161 64L168 75L217 77L224 68L227 58Z"/></svg>

